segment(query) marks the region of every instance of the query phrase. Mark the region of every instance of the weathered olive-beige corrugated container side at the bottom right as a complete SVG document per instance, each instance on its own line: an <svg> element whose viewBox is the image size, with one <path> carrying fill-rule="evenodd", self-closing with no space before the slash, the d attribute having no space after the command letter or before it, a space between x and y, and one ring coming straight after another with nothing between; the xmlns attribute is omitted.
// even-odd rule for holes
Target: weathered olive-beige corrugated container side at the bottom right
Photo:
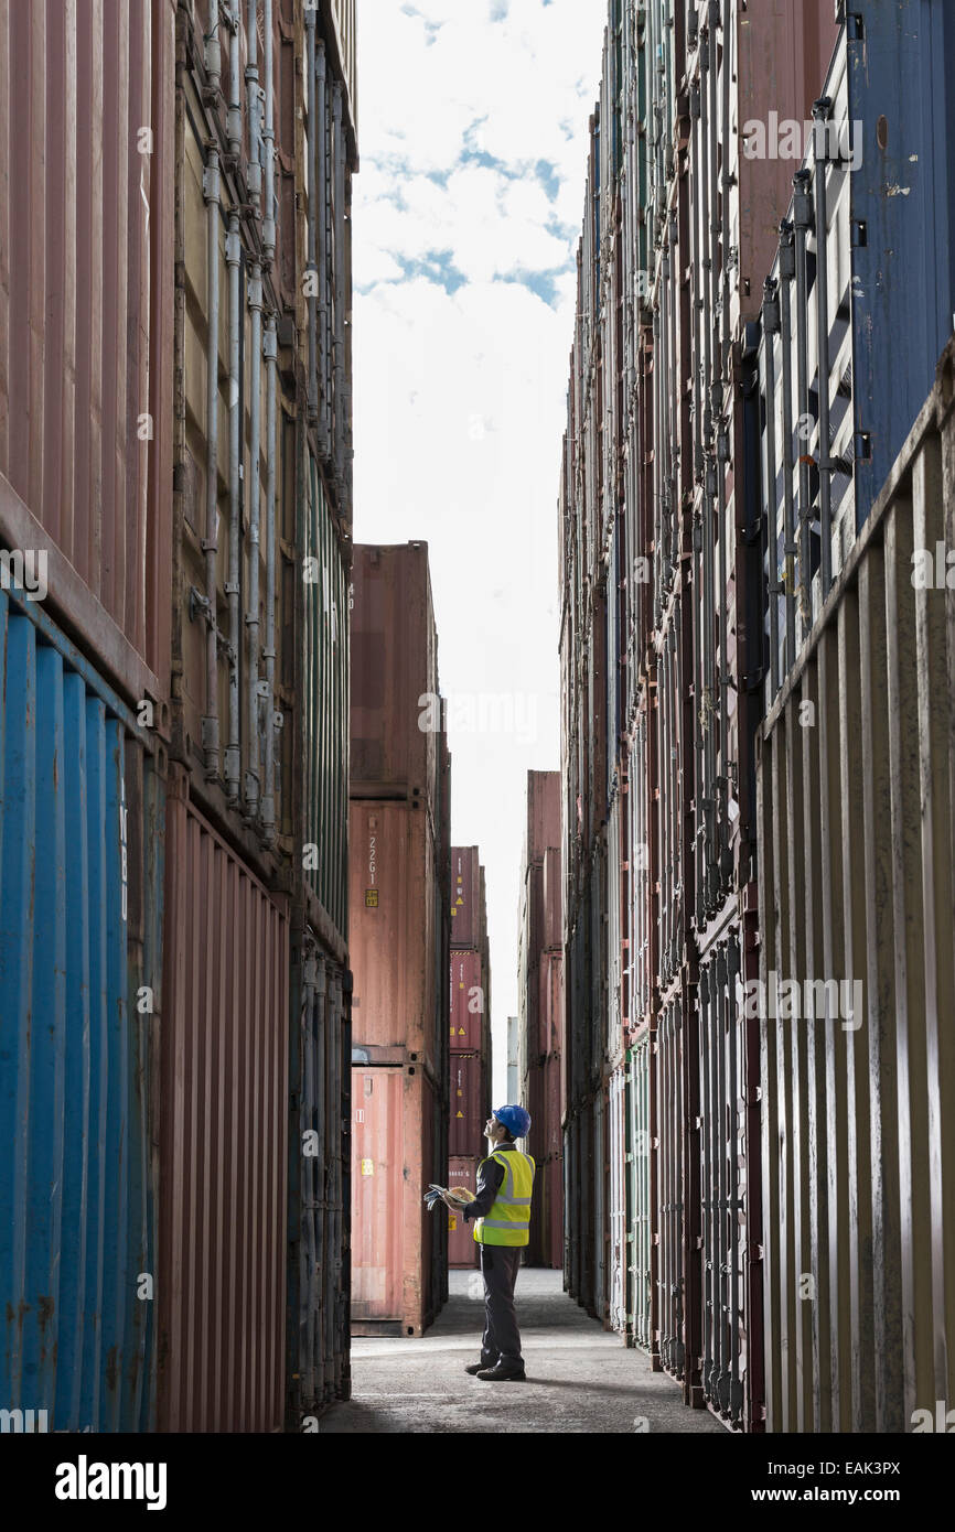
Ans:
<svg viewBox="0 0 955 1532"><path fill-rule="evenodd" d="M953 378L949 346L762 732L773 1431L911 1431L952 1396L955 671L912 556L955 533Z"/></svg>

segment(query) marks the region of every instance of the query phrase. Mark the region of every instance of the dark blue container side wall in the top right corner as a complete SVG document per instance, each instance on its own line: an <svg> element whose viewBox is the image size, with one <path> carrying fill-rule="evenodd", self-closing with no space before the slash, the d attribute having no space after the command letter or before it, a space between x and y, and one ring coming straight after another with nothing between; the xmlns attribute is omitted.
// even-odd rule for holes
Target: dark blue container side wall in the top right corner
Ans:
<svg viewBox="0 0 955 1532"><path fill-rule="evenodd" d="M849 12L858 529L955 328L955 6L855 0Z"/></svg>

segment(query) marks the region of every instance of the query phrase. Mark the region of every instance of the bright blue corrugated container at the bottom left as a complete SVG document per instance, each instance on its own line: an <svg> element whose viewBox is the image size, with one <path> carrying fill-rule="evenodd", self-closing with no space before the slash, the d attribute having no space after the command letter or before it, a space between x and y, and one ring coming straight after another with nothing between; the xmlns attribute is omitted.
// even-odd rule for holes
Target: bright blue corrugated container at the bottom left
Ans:
<svg viewBox="0 0 955 1532"><path fill-rule="evenodd" d="M0 1408L141 1431L161 795L123 703L3 590L0 682Z"/></svg>

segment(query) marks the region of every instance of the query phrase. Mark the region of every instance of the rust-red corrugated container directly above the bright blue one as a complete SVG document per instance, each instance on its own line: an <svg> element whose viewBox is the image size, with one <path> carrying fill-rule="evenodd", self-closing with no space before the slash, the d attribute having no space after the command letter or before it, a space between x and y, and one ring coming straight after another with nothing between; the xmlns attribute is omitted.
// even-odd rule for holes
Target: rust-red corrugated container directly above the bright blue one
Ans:
<svg viewBox="0 0 955 1532"><path fill-rule="evenodd" d="M172 614L175 20L175 0L0 11L0 535L48 552L63 628L123 696L156 703Z"/></svg>

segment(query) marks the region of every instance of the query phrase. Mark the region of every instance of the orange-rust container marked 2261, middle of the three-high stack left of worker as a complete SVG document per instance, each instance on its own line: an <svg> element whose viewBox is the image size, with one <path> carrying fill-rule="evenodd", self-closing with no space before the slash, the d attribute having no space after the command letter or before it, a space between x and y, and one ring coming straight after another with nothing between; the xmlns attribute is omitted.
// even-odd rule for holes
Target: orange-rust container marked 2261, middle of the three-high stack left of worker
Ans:
<svg viewBox="0 0 955 1532"><path fill-rule="evenodd" d="M350 948L354 1037L446 1057L448 985L438 984L438 847L412 801L351 804Z"/></svg>

